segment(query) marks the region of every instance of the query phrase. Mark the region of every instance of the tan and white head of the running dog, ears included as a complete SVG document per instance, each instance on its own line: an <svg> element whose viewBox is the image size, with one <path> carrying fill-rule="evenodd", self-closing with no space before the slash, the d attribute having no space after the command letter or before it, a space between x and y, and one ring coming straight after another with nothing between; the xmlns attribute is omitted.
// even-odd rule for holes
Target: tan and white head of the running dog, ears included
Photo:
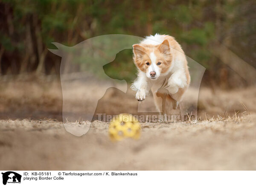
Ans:
<svg viewBox="0 0 256 186"><path fill-rule="evenodd" d="M169 41L159 45L134 44L134 63L148 78L157 79L167 73L172 64Z"/></svg>

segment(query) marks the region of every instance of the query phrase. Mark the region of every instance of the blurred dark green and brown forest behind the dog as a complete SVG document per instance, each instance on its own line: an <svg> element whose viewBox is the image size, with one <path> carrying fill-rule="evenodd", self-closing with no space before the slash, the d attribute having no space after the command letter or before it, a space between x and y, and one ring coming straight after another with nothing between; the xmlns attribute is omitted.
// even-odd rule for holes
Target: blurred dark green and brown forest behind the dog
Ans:
<svg viewBox="0 0 256 186"><path fill-rule="evenodd" d="M255 10L255 0L1 0L0 74L58 76L61 58L49 52L52 42L74 46L98 35L160 33L174 36L206 67L205 85L247 86L252 77L238 76L225 55L256 67ZM109 73L128 68L134 76L131 55L123 52Z"/></svg>

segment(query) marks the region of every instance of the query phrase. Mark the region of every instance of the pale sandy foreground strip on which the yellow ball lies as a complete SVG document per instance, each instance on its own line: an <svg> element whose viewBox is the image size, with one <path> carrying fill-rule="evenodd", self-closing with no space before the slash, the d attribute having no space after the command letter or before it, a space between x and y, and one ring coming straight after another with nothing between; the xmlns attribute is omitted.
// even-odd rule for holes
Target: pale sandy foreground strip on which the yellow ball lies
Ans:
<svg viewBox="0 0 256 186"><path fill-rule="evenodd" d="M61 122L1 120L1 169L256 170L256 115L142 123L140 139L120 142L111 142L108 125L95 121L76 137Z"/></svg>

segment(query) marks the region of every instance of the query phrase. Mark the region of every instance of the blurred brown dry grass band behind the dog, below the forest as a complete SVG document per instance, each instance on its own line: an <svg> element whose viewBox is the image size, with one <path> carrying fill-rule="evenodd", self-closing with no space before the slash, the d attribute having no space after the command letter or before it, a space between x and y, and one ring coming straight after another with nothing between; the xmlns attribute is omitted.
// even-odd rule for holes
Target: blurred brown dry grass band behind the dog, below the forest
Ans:
<svg viewBox="0 0 256 186"><path fill-rule="evenodd" d="M90 82L90 84L71 83L67 94L67 107L73 113L87 113L94 110L92 103L101 98L100 91L111 84L105 82ZM125 85L118 85L125 88ZM62 91L59 81L6 81L0 84L0 119L57 119L62 121ZM86 91L85 91L86 90ZM196 108L193 102L195 91L189 90L183 101ZM81 97L81 99L80 99ZM239 90L219 90L214 92L209 88L201 88L198 96L198 119L217 119L242 116L256 113L256 88L248 87ZM147 97L144 108L148 112L154 110L151 95ZM138 102L134 92L126 94L113 88L107 89L99 100L96 113L110 115L119 113L138 113ZM174 110L174 113L177 110ZM189 115L191 113L188 113ZM97 117L96 117L97 118Z"/></svg>

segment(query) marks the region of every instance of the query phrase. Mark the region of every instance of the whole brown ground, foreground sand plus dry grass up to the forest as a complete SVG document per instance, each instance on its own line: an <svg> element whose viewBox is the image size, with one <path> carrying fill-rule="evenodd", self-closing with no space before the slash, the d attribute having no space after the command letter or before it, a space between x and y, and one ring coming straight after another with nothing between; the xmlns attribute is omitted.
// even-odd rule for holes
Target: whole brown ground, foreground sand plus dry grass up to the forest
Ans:
<svg viewBox="0 0 256 186"><path fill-rule="evenodd" d="M256 170L255 87L201 87L198 119L202 121L144 122L139 140L113 143L108 122L94 121L87 134L76 137L65 130L62 115L86 114L98 99L94 115L138 114L135 93L121 91L127 85L93 80L67 84L62 112L60 81L46 80L0 82L1 169ZM195 108L192 98L193 89L184 102ZM151 95L146 99L143 106L150 113L153 99ZM67 125L81 127L79 122Z"/></svg>

